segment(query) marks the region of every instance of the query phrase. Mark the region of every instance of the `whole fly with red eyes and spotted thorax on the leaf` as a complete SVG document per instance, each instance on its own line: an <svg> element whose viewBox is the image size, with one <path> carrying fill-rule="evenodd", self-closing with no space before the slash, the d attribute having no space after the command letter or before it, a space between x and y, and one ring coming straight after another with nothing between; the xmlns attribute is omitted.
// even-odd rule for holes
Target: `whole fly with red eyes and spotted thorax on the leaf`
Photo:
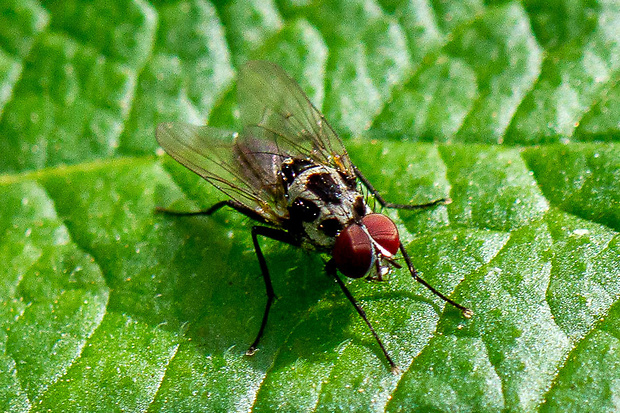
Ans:
<svg viewBox="0 0 620 413"><path fill-rule="evenodd" d="M394 260L400 251L414 280L471 317L470 309L418 276L396 225L370 208L362 188L384 208L425 209L447 204L449 199L421 205L387 202L351 163L325 117L280 66L265 61L246 63L240 70L237 90L243 125L239 133L184 123L163 123L157 128L157 141L170 156L230 199L204 211L158 211L208 216L229 207L262 224L252 227L252 242L265 281L267 304L248 356L258 348L275 298L258 237L331 254L326 272L368 325L392 371L398 370L396 364L338 272L350 278L366 276L381 281L392 268L401 267Z"/></svg>

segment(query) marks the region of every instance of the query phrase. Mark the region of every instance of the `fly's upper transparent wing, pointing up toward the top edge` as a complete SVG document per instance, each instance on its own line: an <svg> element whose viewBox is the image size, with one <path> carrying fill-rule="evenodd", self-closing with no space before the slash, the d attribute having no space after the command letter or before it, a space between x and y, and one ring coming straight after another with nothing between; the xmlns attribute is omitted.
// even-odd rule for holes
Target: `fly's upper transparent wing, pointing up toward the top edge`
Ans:
<svg viewBox="0 0 620 413"><path fill-rule="evenodd" d="M265 61L246 63L239 73L237 92L241 122L247 129L240 140L260 134L276 153L310 158L354 176L338 135L280 66Z"/></svg>

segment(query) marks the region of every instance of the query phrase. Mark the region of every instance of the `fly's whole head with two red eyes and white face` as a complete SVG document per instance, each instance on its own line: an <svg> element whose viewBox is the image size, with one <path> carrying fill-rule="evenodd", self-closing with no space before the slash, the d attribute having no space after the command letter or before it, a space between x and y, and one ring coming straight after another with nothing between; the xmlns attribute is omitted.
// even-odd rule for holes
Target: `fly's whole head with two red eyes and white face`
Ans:
<svg viewBox="0 0 620 413"><path fill-rule="evenodd" d="M382 280L392 266L399 267L393 256L400 248L400 237L394 222L383 214L368 214L344 228L334 244L336 268L351 278L372 273Z"/></svg>

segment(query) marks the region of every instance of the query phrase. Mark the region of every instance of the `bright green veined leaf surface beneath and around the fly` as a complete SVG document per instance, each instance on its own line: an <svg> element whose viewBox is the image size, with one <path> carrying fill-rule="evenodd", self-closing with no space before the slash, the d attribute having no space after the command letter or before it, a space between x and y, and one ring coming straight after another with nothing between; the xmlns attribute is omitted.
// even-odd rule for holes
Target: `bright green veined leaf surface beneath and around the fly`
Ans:
<svg viewBox="0 0 620 413"><path fill-rule="evenodd" d="M616 411L614 0L5 0L0 410ZM420 276L347 281L260 239L158 152L237 128L235 73L280 63L388 200Z"/></svg>

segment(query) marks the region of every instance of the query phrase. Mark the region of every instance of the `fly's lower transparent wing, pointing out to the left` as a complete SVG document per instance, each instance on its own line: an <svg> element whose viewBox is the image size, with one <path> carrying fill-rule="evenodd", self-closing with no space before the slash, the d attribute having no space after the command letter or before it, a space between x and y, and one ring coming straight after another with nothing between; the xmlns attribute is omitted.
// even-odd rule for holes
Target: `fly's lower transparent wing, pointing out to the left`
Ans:
<svg viewBox="0 0 620 413"><path fill-rule="evenodd" d="M230 198L274 223L286 215L276 169L283 159L269 141L239 142L236 133L186 123L162 123L156 136L170 156Z"/></svg>

